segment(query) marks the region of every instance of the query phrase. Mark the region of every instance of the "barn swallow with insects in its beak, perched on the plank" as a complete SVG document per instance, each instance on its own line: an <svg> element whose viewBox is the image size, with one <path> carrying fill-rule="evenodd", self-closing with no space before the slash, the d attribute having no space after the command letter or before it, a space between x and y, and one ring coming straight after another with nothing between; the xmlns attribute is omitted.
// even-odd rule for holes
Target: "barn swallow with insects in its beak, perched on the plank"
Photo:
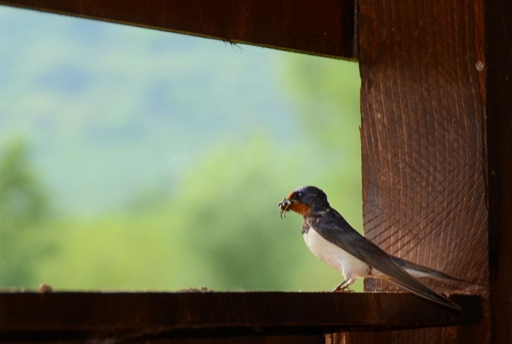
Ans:
<svg viewBox="0 0 512 344"><path fill-rule="evenodd" d="M385 253L331 208L321 189L301 187L289 194L279 203L281 217L290 210L304 217L302 236L311 252L343 273L345 281L335 291L343 291L356 278L382 278L434 303L455 310L461 309L457 304L427 288L415 277L463 280Z"/></svg>

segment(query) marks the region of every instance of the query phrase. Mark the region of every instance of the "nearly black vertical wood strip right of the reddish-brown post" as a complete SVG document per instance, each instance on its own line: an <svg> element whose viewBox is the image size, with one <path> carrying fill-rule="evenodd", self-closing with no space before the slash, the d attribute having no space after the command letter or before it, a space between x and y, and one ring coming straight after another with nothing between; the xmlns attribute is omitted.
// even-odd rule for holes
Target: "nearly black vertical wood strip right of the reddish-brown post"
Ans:
<svg viewBox="0 0 512 344"><path fill-rule="evenodd" d="M512 3L486 1L493 342L512 343Z"/></svg>

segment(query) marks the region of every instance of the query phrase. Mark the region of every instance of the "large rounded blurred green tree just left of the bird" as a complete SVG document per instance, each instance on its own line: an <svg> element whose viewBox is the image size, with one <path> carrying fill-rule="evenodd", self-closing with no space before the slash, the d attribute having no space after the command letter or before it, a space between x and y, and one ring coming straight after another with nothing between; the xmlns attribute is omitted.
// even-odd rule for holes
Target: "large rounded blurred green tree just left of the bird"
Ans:
<svg viewBox="0 0 512 344"><path fill-rule="evenodd" d="M296 168L260 136L216 147L190 170L174 212L183 214L179 227L195 257L188 269L201 274L182 278L216 289L290 288L307 252L299 218L282 221L277 203L289 192L287 181L297 182Z"/></svg>

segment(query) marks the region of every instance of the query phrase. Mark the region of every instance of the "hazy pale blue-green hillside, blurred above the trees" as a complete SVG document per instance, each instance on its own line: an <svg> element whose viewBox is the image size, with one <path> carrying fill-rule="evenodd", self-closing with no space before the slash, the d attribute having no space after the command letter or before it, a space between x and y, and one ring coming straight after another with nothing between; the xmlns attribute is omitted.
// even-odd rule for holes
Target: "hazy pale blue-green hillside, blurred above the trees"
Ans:
<svg viewBox="0 0 512 344"><path fill-rule="evenodd" d="M59 211L120 209L218 140L295 129L284 53L6 6L0 36L0 139L28 137Z"/></svg>

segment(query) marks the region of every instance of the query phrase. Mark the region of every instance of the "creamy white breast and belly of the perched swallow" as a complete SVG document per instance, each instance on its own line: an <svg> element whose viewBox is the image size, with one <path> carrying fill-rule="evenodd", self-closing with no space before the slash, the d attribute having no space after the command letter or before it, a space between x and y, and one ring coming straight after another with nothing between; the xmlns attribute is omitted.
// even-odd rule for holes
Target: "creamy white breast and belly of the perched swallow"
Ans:
<svg viewBox="0 0 512 344"><path fill-rule="evenodd" d="M334 267L334 269L341 271L346 278L365 277L370 273L368 264L327 241L313 228L310 228L302 236L304 236L306 245L315 256Z"/></svg>

